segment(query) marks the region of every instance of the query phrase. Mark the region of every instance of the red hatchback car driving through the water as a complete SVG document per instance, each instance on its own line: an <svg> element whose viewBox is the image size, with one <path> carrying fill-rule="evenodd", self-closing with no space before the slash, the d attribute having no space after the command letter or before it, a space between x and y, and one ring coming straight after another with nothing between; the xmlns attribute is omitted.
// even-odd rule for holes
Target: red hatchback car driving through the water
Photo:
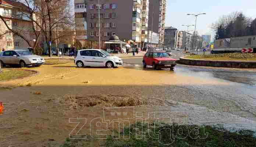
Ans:
<svg viewBox="0 0 256 147"><path fill-rule="evenodd" d="M158 68L173 68L176 65L176 59L170 58L165 51L148 51L143 57L143 67L147 65L153 66L154 69Z"/></svg>

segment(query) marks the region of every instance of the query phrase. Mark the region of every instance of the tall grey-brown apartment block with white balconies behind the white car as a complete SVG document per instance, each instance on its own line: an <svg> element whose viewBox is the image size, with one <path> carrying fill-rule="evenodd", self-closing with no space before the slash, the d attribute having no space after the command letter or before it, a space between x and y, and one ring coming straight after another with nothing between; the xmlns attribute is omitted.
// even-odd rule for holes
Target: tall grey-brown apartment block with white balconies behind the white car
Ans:
<svg viewBox="0 0 256 147"><path fill-rule="evenodd" d="M98 0L74 0L74 3L77 39L80 41L98 41L100 35L101 46L105 49L103 43L115 34L120 40L133 40L136 46L144 47L150 41L152 25L152 32L163 36L166 0L100 0L100 4ZM155 21L152 23L150 15L153 18L153 11Z"/></svg>

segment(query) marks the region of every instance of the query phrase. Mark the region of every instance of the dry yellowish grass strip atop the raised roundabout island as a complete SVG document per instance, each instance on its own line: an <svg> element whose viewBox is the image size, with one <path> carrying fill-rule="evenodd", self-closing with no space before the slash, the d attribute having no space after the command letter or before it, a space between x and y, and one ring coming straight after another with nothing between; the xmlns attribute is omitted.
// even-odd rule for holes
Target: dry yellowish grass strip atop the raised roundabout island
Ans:
<svg viewBox="0 0 256 147"><path fill-rule="evenodd" d="M186 58L201 59L201 60L246 61L246 54L228 53L228 54L210 54L210 55L190 55L190 56L186 56ZM248 54L248 61L256 61L256 54Z"/></svg>

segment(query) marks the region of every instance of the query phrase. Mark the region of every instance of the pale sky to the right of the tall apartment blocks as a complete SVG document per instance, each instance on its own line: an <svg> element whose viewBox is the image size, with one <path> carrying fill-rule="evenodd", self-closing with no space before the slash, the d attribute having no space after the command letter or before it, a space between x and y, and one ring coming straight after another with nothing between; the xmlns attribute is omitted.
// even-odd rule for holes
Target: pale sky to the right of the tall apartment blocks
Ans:
<svg viewBox="0 0 256 147"><path fill-rule="evenodd" d="M167 0L167 16L165 26L173 26L179 30L186 30L181 25L195 24L195 17L191 14L206 13L197 19L197 31L200 35L213 35L210 26L221 15L234 11L242 11L246 16L256 18L256 0ZM193 26L189 30L195 29Z"/></svg>

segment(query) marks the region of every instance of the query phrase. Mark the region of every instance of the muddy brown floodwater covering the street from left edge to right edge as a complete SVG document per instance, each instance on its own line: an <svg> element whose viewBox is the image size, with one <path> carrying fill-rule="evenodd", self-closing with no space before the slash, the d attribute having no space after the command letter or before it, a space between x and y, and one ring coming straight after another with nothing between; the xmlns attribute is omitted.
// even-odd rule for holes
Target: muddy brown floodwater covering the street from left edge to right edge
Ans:
<svg viewBox="0 0 256 147"><path fill-rule="evenodd" d="M165 122L178 118L179 123L256 130L255 72L183 65L156 71L143 69L141 57L123 60L124 67L113 69L76 68L72 61L43 65L33 68L39 72L35 76L0 82L11 87L0 89L5 107L0 146L42 147L49 139L61 143L76 126L69 118L90 122L103 118L103 108L127 106L124 101L131 99L143 118L155 112ZM86 123L83 131L89 127Z"/></svg>

